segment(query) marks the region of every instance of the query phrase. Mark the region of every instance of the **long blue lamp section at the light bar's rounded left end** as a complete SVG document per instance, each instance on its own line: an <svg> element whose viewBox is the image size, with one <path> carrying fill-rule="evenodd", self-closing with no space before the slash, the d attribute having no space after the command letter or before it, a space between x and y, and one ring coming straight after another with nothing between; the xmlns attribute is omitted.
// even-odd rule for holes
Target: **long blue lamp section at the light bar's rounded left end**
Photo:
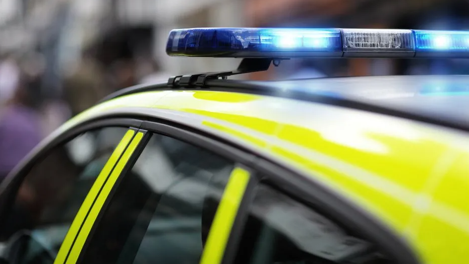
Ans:
<svg viewBox="0 0 469 264"><path fill-rule="evenodd" d="M173 56L317 57L341 56L338 29L195 28L169 33Z"/></svg>

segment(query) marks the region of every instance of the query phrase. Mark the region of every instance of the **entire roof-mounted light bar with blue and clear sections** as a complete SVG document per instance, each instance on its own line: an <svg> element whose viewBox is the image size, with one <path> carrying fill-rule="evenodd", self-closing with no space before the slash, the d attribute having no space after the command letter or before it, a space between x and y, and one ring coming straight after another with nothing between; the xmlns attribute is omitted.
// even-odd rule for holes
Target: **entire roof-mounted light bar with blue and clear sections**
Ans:
<svg viewBox="0 0 469 264"><path fill-rule="evenodd" d="M469 31L194 28L169 33L171 56L469 57Z"/></svg>

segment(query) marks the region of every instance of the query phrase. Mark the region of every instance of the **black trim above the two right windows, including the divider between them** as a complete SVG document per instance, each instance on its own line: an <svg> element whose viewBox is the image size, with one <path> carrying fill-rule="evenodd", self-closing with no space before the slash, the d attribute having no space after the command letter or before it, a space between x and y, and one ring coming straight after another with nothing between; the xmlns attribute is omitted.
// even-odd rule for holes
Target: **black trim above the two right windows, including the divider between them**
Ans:
<svg viewBox="0 0 469 264"><path fill-rule="evenodd" d="M164 113L159 114L164 115ZM189 142L251 168L252 180L248 183L239 213L234 220L225 248L225 255L228 254L228 257L223 257L222 264L231 264L232 256L236 253L236 241L239 239L237 237L241 235L240 231L242 231L246 220L245 214L249 210L249 202L253 199L255 187L261 180L259 175L263 175L273 186L276 186L286 195L295 194L291 196L301 197L300 201L305 201L309 207L317 208L318 211L325 213L331 219L338 220L339 223L343 223L341 219L346 219L348 228L358 230L357 233L360 236L376 243L382 248L383 252L395 259L397 263L420 264L422 262L412 247L403 238L395 234L390 227L376 219L365 209L349 201L347 197L326 187L310 175L266 157L252 148L246 148L246 146L238 145L218 135L178 123L178 120L173 120L170 115L166 120L161 121L161 119L150 117L142 122L141 128ZM172 121L177 125L170 125L168 121Z"/></svg>

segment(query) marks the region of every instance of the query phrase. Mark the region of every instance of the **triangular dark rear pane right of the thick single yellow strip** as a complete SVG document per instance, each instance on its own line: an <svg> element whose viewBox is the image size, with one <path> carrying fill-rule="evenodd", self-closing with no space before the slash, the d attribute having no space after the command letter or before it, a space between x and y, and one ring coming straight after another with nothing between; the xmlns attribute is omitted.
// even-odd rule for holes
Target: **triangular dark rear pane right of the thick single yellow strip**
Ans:
<svg viewBox="0 0 469 264"><path fill-rule="evenodd" d="M236 264L392 263L373 243L267 185L259 185Z"/></svg>

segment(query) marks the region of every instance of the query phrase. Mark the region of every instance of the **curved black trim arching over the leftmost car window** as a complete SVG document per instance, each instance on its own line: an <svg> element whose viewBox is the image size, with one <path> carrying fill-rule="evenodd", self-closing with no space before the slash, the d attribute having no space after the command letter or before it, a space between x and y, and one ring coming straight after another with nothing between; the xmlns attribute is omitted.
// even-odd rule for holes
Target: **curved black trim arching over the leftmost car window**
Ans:
<svg viewBox="0 0 469 264"><path fill-rule="evenodd" d="M97 118L78 123L58 135L51 135L36 146L0 184L0 227L3 226L17 191L34 164L56 146L93 129L103 127L140 127L142 121L135 118Z"/></svg>

